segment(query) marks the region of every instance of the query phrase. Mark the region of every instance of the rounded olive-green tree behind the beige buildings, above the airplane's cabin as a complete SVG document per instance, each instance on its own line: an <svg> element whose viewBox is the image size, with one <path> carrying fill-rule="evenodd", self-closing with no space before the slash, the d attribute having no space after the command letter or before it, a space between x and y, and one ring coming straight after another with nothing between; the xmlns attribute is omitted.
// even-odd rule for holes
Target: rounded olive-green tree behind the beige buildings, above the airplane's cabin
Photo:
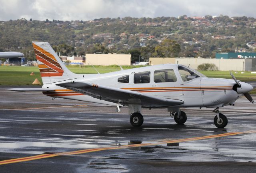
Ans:
<svg viewBox="0 0 256 173"><path fill-rule="evenodd" d="M155 57L176 57L180 52L180 45L171 39L165 39L155 47Z"/></svg>

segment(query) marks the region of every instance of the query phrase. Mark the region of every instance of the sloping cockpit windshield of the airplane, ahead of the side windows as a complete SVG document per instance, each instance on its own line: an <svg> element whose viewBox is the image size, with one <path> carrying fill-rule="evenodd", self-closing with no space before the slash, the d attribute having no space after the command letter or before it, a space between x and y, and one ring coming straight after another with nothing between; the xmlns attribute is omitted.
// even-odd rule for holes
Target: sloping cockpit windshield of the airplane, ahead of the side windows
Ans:
<svg viewBox="0 0 256 173"><path fill-rule="evenodd" d="M183 82L187 82L199 77L206 77L200 72L197 72L196 70L192 70L186 66L178 66L178 70Z"/></svg>

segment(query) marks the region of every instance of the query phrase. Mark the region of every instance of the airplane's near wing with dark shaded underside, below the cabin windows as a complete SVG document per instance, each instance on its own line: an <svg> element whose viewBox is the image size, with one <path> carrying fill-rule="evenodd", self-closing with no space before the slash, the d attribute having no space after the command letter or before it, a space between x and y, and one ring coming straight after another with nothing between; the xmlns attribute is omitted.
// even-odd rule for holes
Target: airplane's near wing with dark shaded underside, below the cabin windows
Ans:
<svg viewBox="0 0 256 173"><path fill-rule="evenodd" d="M68 82L56 85L122 105L140 104L142 107L168 107L184 103L178 99L164 99L126 89L99 86L89 82Z"/></svg>

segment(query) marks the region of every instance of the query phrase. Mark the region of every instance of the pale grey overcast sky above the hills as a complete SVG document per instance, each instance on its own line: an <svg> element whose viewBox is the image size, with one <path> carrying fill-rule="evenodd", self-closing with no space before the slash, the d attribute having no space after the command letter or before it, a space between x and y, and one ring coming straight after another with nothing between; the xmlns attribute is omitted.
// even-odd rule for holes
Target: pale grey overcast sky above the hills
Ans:
<svg viewBox="0 0 256 173"><path fill-rule="evenodd" d="M0 20L93 20L117 17L250 16L256 0L0 0Z"/></svg>

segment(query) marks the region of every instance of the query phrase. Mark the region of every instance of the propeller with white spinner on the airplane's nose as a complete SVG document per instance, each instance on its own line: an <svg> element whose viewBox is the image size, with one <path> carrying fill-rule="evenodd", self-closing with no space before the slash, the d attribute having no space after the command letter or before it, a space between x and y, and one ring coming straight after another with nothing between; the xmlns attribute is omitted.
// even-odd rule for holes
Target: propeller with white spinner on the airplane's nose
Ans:
<svg viewBox="0 0 256 173"><path fill-rule="evenodd" d="M252 96L249 94L249 91L251 91L253 89L253 87L250 84L241 82L242 84L240 84L238 82L238 80L236 80L236 78L234 77L234 75L232 74L232 72L230 72L231 77L233 78L233 80L236 82L237 86L235 87L235 91L237 93L242 93L244 94L244 96L251 102L254 103L254 100L252 99Z"/></svg>

